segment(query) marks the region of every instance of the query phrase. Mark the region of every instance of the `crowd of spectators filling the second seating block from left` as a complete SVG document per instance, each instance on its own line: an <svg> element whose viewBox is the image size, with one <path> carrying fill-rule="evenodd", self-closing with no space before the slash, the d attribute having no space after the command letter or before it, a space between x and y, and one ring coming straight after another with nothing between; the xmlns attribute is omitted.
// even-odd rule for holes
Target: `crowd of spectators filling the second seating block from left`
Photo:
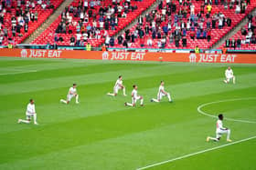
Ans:
<svg viewBox="0 0 256 170"><path fill-rule="evenodd" d="M141 1L141 0L139 0ZM61 34L71 34L69 45L86 45L91 39L106 38L116 30L120 18L137 9L131 0L80 0L66 7L56 28L55 41L62 41Z"/></svg>

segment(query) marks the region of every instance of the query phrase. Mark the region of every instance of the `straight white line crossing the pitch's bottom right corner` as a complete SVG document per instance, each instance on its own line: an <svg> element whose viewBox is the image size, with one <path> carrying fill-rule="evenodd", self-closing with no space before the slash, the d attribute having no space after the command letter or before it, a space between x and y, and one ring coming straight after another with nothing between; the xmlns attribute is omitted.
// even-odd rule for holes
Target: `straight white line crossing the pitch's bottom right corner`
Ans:
<svg viewBox="0 0 256 170"><path fill-rule="evenodd" d="M213 150L216 150L216 149L219 149L219 148L222 148L222 147L226 147L228 145L235 145L235 144L239 144L239 143L242 143L242 142L245 142L245 141L249 141L249 140L254 139L254 138L256 138L256 135L251 136L249 138L241 139L240 141L232 142L232 143L229 143L229 144L219 145L217 147L208 148L206 150L202 150L202 151L199 151L199 152L196 152L196 153L182 155L182 156L179 156L179 157L176 157L176 158L173 158L173 159L169 159L169 160L166 160L166 161L163 161L163 162L155 163L153 165L146 165L144 167L137 168L136 170L143 170L143 169L147 169L147 168L154 167L154 166L157 166L157 165L164 165L166 163L171 163L171 162L174 162L176 160L180 160L180 159L184 159L184 158L187 158L187 157L191 157L193 155L203 154L203 153L206 153L206 152L209 152L209 151L213 151Z"/></svg>

